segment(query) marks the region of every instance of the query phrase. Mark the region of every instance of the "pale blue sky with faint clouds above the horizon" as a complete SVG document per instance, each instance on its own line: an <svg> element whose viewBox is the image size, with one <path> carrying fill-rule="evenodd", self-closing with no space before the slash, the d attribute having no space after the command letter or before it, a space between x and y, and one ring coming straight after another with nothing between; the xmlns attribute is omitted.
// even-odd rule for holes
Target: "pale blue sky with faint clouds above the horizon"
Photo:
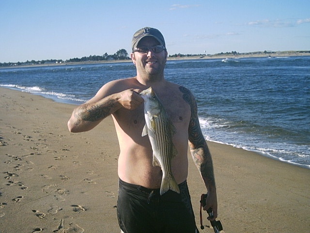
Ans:
<svg viewBox="0 0 310 233"><path fill-rule="evenodd" d="M1 0L0 62L130 53L145 26L169 54L310 50L310 0Z"/></svg>

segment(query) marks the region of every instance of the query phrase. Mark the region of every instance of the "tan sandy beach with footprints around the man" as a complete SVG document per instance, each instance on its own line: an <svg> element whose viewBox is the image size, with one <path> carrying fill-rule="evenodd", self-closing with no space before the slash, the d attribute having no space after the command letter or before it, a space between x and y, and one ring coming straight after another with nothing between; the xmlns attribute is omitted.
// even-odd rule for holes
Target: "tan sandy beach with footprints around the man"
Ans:
<svg viewBox="0 0 310 233"><path fill-rule="evenodd" d="M67 130L75 105L0 88L0 232L119 233L119 145L111 117ZM306 233L310 169L208 142L225 233ZM206 192L190 154L187 183L200 229ZM203 213L203 224L210 222ZM206 227L201 233L211 233Z"/></svg>

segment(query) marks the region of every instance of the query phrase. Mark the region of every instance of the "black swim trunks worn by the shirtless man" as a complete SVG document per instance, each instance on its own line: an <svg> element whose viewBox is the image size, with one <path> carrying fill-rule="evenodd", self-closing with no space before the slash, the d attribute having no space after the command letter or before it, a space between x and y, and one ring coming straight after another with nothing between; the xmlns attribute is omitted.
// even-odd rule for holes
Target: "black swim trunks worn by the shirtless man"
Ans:
<svg viewBox="0 0 310 233"><path fill-rule="evenodd" d="M198 233L186 181L181 193L119 181L117 217L124 233Z"/></svg>

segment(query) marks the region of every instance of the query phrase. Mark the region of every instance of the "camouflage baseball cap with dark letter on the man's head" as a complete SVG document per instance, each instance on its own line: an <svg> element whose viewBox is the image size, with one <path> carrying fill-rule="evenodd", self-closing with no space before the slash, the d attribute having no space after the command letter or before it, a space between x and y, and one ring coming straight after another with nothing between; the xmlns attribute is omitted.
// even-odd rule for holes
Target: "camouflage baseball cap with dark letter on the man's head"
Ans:
<svg viewBox="0 0 310 233"><path fill-rule="evenodd" d="M165 39L162 33L155 28L145 27L138 30L132 37L131 42L132 50L134 50L134 48L137 47L139 41L145 36L153 36L160 43L160 45L166 48Z"/></svg>

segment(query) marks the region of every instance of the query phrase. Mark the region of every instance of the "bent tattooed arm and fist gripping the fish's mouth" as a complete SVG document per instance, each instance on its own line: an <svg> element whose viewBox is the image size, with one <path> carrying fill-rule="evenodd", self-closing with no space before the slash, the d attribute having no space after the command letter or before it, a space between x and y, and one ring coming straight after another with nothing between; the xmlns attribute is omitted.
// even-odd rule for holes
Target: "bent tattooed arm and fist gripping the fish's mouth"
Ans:
<svg viewBox="0 0 310 233"><path fill-rule="evenodd" d="M74 109L68 121L68 129L72 133L85 132L93 129L101 120L120 108L133 110L143 99L138 89L127 89L119 93L111 93L111 84L104 85L89 101Z"/></svg>

